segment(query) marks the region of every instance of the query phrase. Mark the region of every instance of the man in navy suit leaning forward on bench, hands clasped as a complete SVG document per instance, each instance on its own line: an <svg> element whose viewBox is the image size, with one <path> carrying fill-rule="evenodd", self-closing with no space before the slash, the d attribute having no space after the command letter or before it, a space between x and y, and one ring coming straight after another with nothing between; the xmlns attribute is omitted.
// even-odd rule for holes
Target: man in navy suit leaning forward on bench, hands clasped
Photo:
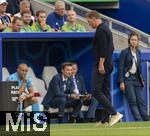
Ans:
<svg viewBox="0 0 150 136"><path fill-rule="evenodd" d="M53 77L49 84L49 89L45 95L42 104L46 110L49 107L58 108L58 119L62 123L64 116L64 109L66 107L73 107L73 112L70 118L70 123L75 121L78 116L82 101L78 94L73 93L74 85L71 77L72 64L65 62L61 66L61 74Z"/></svg>

